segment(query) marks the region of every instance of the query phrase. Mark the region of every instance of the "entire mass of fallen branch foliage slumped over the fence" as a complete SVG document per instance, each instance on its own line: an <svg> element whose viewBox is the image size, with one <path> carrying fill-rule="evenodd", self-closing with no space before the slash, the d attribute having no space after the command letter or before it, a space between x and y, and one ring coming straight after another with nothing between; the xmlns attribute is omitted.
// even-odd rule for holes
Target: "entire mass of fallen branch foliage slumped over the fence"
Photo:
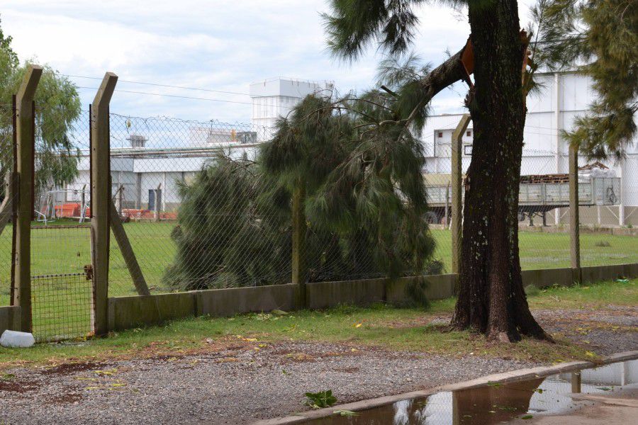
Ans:
<svg viewBox="0 0 638 425"><path fill-rule="evenodd" d="M256 162L220 156L206 164L181 187L178 252L165 283L287 283L299 189L308 281L439 271L430 261L421 145L403 126L379 126L396 121L391 103L378 92L335 102L308 96L279 120Z"/></svg>

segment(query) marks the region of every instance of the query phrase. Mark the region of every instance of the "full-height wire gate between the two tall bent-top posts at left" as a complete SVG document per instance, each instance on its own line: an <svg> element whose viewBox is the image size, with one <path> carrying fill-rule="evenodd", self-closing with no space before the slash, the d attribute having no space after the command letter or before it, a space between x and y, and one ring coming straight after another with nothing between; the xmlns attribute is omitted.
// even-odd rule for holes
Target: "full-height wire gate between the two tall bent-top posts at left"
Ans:
<svg viewBox="0 0 638 425"><path fill-rule="evenodd" d="M33 334L38 341L93 331L90 227L69 182L89 149L89 117L50 119L36 104L33 218L30 232ZM86 198L86 196L84 196Z"/></svg>

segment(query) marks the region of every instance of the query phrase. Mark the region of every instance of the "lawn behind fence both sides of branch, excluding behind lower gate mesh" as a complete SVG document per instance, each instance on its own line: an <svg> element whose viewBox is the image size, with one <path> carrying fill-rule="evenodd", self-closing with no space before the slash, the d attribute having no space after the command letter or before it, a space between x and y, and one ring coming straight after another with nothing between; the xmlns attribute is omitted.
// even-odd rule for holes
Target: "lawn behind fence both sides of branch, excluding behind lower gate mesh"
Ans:
<svg viewBox="0 0 638 425"><path fill-rule="evenodd" d="M73 222L70 222L73 223ZM38 223L39 224L39 223ZM50 229L32 231L32 264L34 276L52 273L78 273L89 264L89 229L56 228L69 222L53 222ZM154 292L162 292L162 275L172 263L176 247L170 233L174 222L130 222L124 225L147 283ZM451 267L449 230L433 229L437 241L435 257L441 259L447 271ZM597 246L609 244L609 246ZM569 267L569 234L520 232L522 268ZM638 262L638 237L609 234L581 234L583 266ZM0 236L0 305L9 302L11 272L11 226ZM111 236L109 295L134 295L115 238Z"/></svg>

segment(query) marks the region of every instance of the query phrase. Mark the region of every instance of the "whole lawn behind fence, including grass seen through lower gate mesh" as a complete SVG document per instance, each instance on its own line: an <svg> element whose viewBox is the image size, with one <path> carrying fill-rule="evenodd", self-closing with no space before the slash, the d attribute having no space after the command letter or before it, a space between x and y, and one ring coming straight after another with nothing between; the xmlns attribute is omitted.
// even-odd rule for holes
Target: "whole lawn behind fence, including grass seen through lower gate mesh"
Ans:
<svg viewBox="0 0 638 425"><path fill-rule="evenodd" d="M40 226L41 223L34 223L36 225ZM77 225L77 222L57 220L50 227L32 230L32 276L82 273L84 266L91 263L89 227L66 228L62 225ZM162 286L161 280L176 252L170 237L174 226L174 222L130 222L124 225L142 273L154 293L169 290ZM450 232L433 229L432 234L437 241L435 258L441 259L449 271ZM521 232L520 249L523 268L569 266L569 234ZM582 234L581 256L583 266L638 262L638 237ZM0 235L0 305L9 305L10 259L11 226L8 226ZM88 326L90 295L86 285L77 283L77 278L69 279L66 282L60 280L57 286L48 285L48 280L35 280L33 283L33 324L40 338L54 337L60 332L83 334L82 329ZM80 298L77 295L79 292L84 294ZM128 269L112 235L108 293L110 296L135 295ZM84 304L78 300L84 300ZM53 329L52 317L57 317L58 326L64 323L74 325L72 329Z"/></svg>

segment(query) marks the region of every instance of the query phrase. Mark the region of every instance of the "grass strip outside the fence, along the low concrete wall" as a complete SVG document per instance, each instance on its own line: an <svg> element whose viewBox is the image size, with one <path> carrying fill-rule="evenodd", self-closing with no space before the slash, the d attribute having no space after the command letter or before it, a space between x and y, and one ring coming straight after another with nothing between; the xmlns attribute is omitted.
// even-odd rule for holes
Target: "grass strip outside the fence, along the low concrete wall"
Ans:
<svg viewBox="0 0 638 425"><path fill-rule="evenodd" d="M637 305L638 280L606 282L571 288L550 288L530 295L533 309L600 309L608 305ZM248 343L259 349L275 341L330 341L356 349L380 346L393 350L440 353L451 356L507 356L522 360L559 362L591 359L583 346L558 339L548 344L523 339L517 344L488 342L467 331L447 331L427 324L432 317L449 314L454 300L432 302L427 310L374 305L342 306L329 310L289 314L255 313L228 318L196 317L164 327L130 329L106 338L76 344L37 344L28 349L0 348L0 367L16 363L59 363L138 356L183 355L210 350L211 342ZM252 345L251 345L252 344ZM252 349L252 348L251 348Z"/></svg>

